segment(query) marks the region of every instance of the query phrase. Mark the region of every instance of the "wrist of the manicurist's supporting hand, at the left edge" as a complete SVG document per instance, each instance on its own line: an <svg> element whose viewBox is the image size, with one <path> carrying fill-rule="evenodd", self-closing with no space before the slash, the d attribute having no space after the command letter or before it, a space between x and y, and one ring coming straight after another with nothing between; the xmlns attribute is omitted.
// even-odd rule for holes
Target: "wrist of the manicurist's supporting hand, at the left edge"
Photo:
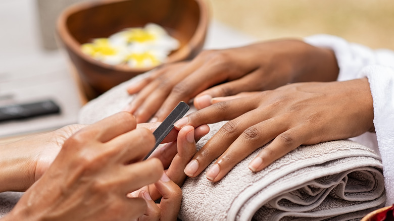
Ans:
<svg viewBox="0 0 394 221"><path fill-rule="evenodd" d="M25 191L48 169L64 141L84 125L70 125L2 145L0 192Z"/></svg>

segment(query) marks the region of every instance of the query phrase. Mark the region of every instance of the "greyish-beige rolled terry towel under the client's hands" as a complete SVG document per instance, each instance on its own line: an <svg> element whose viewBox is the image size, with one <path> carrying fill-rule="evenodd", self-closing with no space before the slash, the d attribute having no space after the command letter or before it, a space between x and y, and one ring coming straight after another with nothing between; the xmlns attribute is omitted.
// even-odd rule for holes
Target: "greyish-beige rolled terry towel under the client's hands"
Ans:
<svg viewBox="0 0 394 221"><path fill-rule="evenodd" d="M147 74L87 103L79 123L91 124L121 111L133 99L126 86ZM199 141L198 148L224 123L210 125L210 133ZM220 182L208 181L205 171L187 178L179 218L350 220L385 204L382 163L371 148L350 140L301 146L265 170L252 173L248 163L260 150L238 163Z"/></svg>

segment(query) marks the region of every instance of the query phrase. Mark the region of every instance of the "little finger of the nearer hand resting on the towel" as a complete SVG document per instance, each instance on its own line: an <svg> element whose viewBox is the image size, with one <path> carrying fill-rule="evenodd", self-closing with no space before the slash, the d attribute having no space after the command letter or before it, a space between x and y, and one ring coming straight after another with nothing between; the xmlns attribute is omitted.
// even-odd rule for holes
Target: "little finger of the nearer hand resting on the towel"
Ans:
<svg viewBox="0 0 394 221"><path fill-rule="evenodd" d="M300 128L281 133L249 163L249 169L253 172L263 170L273 161L299 147L306 139L307 137L300 133Z"/></svg>

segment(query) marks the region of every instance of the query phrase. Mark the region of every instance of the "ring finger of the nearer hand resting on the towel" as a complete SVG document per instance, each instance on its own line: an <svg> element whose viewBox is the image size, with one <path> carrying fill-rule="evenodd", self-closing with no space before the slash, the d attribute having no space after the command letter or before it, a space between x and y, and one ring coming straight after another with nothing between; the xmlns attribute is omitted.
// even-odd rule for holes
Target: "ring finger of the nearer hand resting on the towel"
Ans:
<svg viewBox="0 0 394 221"><path fill-rule="evenodd" d="M207 179L221 180L238 162L286 131L288 125L279 118L271 118L244 130L208 170Z"/></svg>

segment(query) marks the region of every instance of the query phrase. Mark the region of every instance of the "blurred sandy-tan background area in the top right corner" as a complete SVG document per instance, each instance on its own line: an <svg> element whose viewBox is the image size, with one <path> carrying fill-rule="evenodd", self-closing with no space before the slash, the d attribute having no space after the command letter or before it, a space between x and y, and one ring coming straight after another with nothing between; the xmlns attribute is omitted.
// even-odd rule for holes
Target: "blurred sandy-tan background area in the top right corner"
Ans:
<svg viewBox="0 0 394 221"><path fill-rule="evenodd" d="M394 49L392 0L211 0L213 17L258 39L333 34Z"/></svg>

